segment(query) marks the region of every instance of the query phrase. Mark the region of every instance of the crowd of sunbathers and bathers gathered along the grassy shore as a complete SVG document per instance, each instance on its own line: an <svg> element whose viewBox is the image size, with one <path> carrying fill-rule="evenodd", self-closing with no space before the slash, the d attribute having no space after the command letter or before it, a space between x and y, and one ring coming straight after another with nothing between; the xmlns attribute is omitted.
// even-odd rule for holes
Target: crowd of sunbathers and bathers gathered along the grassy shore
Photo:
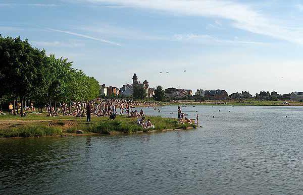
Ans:
<svg viewBox="0 0 303 195"><path fill-rule="evenodd" d="M17 104L18 106L18 104ZM115 119L116 115L125 114L127 117L136 118L137 124L145 129L155 128L150 119L145 120L145 114L141 109L140 112L135 110L135 107L153 107L155 110L160 106L157 102L134 102L125 100L102 100L96 99L86 102L73 102L70 105L67 103L59 103L55 108L49 104L45 105L47 116L75 116L86 117L87 121L90 121L91 116L108 116L110 119ZM30 106L24 108L24 110L35 111L33 103ZM25 113L25 112L24 112ZM0 111L0 115L4 115L3 111ZM13 114L13 104L9 104L9 114ZM25 113L26 115L26 113ZM198 124L199 116L196 115L196 124ZM192 121L186 117L186 114L181 111L178 106L178 122L181 124L189 123Z"/></svg>

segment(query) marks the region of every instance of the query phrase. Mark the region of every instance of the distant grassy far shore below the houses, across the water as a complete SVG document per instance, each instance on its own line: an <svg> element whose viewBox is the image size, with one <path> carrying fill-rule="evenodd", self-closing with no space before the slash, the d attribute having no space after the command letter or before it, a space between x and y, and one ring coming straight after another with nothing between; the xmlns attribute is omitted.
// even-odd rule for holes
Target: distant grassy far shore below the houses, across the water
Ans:
<svg viewBox="0 0 303 195"><path fill-rule="evenodd" d="M226 106L303 106L303 102L292 102L287 101L288 104L284 104L284 101L266 101L266 100L256 100L256 99L246 99L245 101L218 101L218 100L209 100L203 102L194 102L194 101L176 101L176 102L167 102L163 105L226 105Z"/></svg>

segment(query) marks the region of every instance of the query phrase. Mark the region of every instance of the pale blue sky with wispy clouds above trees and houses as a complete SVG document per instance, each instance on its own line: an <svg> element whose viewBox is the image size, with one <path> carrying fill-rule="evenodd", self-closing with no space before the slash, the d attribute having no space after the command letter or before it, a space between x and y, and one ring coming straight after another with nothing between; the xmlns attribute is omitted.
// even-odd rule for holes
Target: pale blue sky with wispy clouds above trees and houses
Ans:
<svg viewBox="0 0 303 195"><path fill-rule="evenodd" d="M107 86L303 91L298 0L0 0L0 34Z"/></svg>

